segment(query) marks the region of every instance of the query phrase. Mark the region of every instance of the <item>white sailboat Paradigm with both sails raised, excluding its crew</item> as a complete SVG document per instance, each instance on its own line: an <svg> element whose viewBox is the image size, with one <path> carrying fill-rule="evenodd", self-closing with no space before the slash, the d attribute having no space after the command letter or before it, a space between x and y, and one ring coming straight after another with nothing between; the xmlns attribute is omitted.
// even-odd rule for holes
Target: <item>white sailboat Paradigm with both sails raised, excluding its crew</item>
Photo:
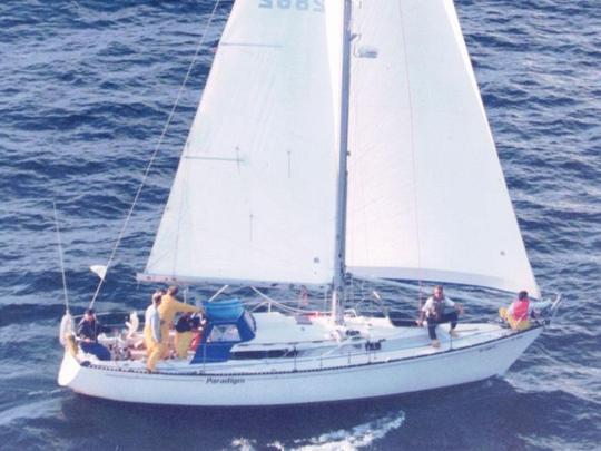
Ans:
<svg viewBox="0 0 601 451"><path fill-rule="evenodd" d="M237 0L138 280L268 307L220 290L188 359L148 373L134 326L101 336L109 361L67 345L58 382L198 406L386 396L503 375L548 323L440 325L433 347L347 308L351 278L541 298L453 1ZM273 286L329 307L277 310Z"/></svg>

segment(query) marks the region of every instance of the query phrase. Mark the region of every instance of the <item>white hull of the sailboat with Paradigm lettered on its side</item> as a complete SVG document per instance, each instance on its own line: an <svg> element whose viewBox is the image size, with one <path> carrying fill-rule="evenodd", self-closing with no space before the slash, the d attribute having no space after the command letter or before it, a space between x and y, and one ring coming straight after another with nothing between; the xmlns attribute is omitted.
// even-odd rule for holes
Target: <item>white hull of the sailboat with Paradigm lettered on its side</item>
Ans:
<svg viewBox="0 0 601 451"><path fill-rule="evenodd" d="M196 406L258 406L359 400L502 375L542 327L452 351L311 371L150 374L82 366L65 354L59 384L108 400Z"/></svg>

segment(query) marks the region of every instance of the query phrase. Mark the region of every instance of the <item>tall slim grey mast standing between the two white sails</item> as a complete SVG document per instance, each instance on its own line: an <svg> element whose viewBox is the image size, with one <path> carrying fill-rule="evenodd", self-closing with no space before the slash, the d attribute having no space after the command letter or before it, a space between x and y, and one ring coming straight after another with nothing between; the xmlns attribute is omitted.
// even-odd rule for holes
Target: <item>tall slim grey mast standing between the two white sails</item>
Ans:
<svg viewBox="0 0 601 451"><path fill-rule="evenodd" d="M345 243L346 243L346 195L347 195L347 157L348 157L348 102L351 89L351 18L352 0L344 0L343 53L342 53L342 96L341 96L341 147L336 207L336 247L334 255L334 280L332 290L332 318L336 323L343 321L343 302L345 285Z"/></svg>

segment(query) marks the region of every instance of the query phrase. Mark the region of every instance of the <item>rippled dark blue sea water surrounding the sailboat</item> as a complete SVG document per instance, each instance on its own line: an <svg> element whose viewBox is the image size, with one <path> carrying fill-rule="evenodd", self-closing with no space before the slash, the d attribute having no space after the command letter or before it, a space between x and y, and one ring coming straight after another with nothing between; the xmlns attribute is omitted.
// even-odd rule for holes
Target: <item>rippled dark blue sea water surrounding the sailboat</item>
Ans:
<svg viewBox="0 0 601 451"><path fill-rule="evenodd" d="M244 0L238 0L244 1ZM377 0L364 0L377 1ZM230 8L221 2L99 310L137 287ZM96 288L214 2L0 3L0 448L590 450L601 442L601 2L459 0L531 262L556 324L504 379L385 401L199 410L58 388L56 200L75 311ZM387 292L387 300L394 293ZM394 305L391 304L392 307ZM470 305L492 314L496 305Z"/></svg>

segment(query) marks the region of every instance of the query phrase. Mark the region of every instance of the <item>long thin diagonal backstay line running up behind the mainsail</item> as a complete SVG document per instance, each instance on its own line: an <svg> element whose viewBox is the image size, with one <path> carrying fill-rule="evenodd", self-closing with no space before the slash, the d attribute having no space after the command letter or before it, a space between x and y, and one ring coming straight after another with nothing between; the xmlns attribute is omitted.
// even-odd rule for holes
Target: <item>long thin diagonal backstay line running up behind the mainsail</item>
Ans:
<svg viewBox="0 0 601 451"><path fill-rule="evenodd" d="M148 179L148 175L150 173L150 169L152 168L152 165L154 165L155 159L157 157L158 150L159 150L159 148L160 148L160 146L162 144L162 139L165 138L167 129L169 128L169 125L171 124L171 119L174 118L174 114L175 114L175 110L177 108L177 105L179 104L179 99L181 97L181 92L184 91L184 87L186 86L186 84L188 81L188 78L189 78L189 76L191 73L191 70L196 65L196 59L198 57L198 53L200 52L200 48L205 43L205 38L207 36L208 28L213 23L215 12L217 11L217 8L218 8L220 2L221 2L221 0L217 0L215 2L213 11L210 12L210 16L208 18L208 21L205 24L205 30L203 31L203 36L200 37L200 42L198 43L198 47L196 48L196 51L194 53L194 58L193 58L193 60L191 60L191 62L190 62L190 65L188 67L188 71L186 72L186 77L184 77L184 81L181 82L181 86L179 87L179 90L177 92L177 97L176 97L176 100L174 102L174 106L171 107L171 110L169 111L169 116L167 117L167 121L165 122L165 126L162 127L162 133L160 134L160 137L159 137L158 143L157 143L157 145L155 147L152 156L150 157L150 160L148 161L148 165L146 167L146 171L144 173L144 177L142 177L141 182L140 182L138 190L136 192L136 196L134 197L134 202L131 203L131 207L129 208L129 212L127 213L124 226L121 227L121 231L119 232L119 236L117 237L117 242L115 243L115 246L112 247L112 252L111 252L110 257L109 257L108 263L107 263L107 272L108 272L110 265L112 264L112 261L115 258L115 254L117 253L117 249L119 248L119 245L120 245L121 239L124 237L125 231L126 231L126 228L127 228L127 226L129 224L129 219L131 218L131 215L134 214L134 209L136 208L136 204L138 203L141 190L144 188L144 186L146 185L146 180ZM92 300L90 302L90 308L93 307L93 303L96 302L96 298L98 297L98 293L100 293L100 288L101 288L102 284L105 283L105 278L106 278L106 273L105 273L105 277L100 277L100 282L98 283L96 292L93 293Z"/></svg>

